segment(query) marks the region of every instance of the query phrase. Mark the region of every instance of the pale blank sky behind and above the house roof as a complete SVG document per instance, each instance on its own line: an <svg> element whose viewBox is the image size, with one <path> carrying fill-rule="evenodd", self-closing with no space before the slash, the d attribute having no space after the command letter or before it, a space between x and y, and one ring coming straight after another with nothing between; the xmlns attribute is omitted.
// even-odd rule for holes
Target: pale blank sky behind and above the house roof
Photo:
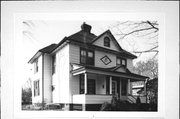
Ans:
<svg viewBox="0 0 180 119"><path fill-rule="evenodd" d="M70 36L80 31L83 22L91 25L91 32L97 36L110 29L111 26L117 23L117 21L24 21L22 23L24 49L23 63L25 65L25 73L27 74L26 76L30 75L29 69L31 69L31 65L29 65L27 62L39 49L46 47L52 43L59 43L65 36ZM133 49L146 49L147 47L149 47L147 45L144 45L144 42L146 41L142 38L133 36L128 36L126 40L119 40L119 37L117 36L115 36L115 38L120 43L120 46L123 49L131 53ZM150 56L151 54L143 54L134 60L134 64L137 61L147 60Z"/></svg>

